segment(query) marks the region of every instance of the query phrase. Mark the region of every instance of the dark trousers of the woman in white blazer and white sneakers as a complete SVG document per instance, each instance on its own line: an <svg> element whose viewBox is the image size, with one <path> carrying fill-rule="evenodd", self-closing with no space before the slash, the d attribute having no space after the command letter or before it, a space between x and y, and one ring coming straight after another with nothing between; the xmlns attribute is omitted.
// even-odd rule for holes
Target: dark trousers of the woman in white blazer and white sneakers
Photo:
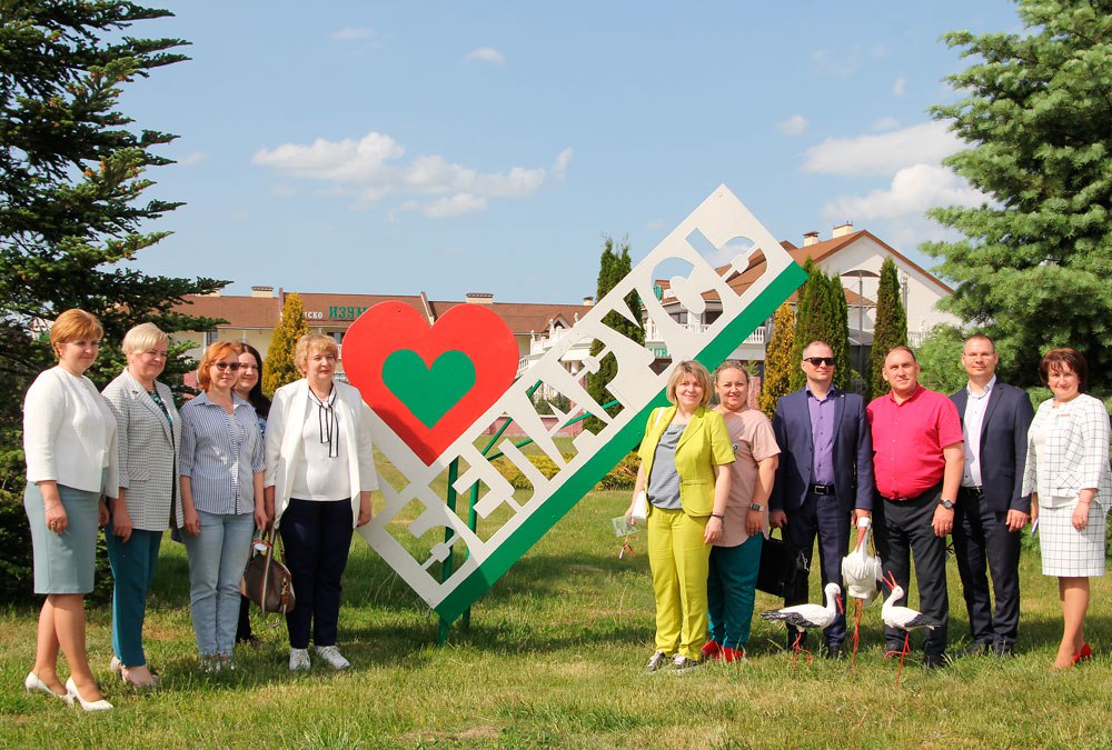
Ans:
<svg viewBox="0 0 1112 750"><path fill-rule="evenodd" d="M297 603L286 614L290 648L336 646L340 577L351 547L350 500L289 501L278 532Z"/></svg>

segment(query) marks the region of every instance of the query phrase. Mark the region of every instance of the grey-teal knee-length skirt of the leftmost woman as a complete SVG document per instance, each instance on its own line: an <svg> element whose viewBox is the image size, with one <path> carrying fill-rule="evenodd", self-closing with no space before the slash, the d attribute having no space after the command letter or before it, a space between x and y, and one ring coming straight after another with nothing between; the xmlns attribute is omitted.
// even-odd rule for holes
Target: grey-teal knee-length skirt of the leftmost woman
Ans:
<svg viewBox="0 0 1112 750"><path fill-rule="evenodd" d="M58 486L67 526L62 533L47 528L42 492L33 482L23 492L23 509L31 524L34 548L36 593L89 593L97 561L97 528L100 526L100 496L87 490Z"/></svg>

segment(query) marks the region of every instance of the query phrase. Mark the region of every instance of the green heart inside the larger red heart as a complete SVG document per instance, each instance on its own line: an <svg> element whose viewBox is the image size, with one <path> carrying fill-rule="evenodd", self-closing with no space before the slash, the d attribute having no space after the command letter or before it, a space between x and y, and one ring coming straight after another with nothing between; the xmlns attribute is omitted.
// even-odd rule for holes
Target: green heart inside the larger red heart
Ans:
<svg viewBox="0 0 1112 750"><path fill-rule="evenodd" d="M413 349L399 349L383 363L383 382L433 429L475 386L475 364L466 353L451 349L436 358L433 367Z"/></svg>

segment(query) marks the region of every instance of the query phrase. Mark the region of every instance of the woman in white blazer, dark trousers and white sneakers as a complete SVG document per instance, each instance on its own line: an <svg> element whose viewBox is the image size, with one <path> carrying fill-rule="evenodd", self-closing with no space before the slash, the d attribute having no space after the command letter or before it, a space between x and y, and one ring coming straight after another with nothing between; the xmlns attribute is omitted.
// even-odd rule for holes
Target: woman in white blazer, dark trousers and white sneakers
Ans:
<svg viewBox="0 0 1112 750"><path fill-rule="evenodd" d="M351 531L371 517L378 474L370 409L335 380L339 348L302 336L294 362L305 376L279 388L267 419L267 514L275 519L294 577L297 606L286 614L289 668L309 669L309 640L332 669L350 666L336 647L340 577Z"/></svg>

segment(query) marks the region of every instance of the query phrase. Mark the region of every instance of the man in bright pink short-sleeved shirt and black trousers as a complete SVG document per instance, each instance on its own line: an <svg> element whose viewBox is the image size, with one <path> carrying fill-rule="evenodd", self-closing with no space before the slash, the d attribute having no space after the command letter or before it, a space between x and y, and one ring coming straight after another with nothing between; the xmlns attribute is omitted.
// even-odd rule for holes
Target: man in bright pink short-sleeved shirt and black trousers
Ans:
<svg viewBox="0 0 1112 750"><path fill-rule="evenodd" d="M942 622L926 631L923 666L945 662L950 599L946 594L946 534L954 528L954 502L965 453L954 402L919 384L919 362L907 347L884 358L883 377L892 391L868 404L873 432L873 476L880 496L873 506L877 551L885 573L909 590L915 560L920 610ZM906 594L897 604L906 604ZM904 633L885 629L886 650L903 647Z"/></svg>

